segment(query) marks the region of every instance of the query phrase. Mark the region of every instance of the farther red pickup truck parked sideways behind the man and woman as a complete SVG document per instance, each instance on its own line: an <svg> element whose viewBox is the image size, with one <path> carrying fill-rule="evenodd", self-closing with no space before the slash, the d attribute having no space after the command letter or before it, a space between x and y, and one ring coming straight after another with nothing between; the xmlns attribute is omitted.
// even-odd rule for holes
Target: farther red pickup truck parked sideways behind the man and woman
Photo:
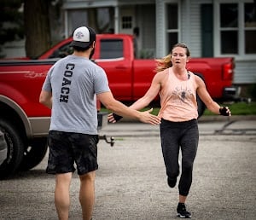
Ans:
<svg viewBox="0 0 256 220"><path fill-rule="evenodd" d="M39 60L70 54L72 38L49 49ZM109 86L119 101L136 101L148 90L156 62L137 59L134 39L127 34L99 34L93 59L108 75ZM204 78L207 90L215 100L230 100L236 96L232 86L235 60L233 57L191 58L187 64L191 72Z"/></svg>

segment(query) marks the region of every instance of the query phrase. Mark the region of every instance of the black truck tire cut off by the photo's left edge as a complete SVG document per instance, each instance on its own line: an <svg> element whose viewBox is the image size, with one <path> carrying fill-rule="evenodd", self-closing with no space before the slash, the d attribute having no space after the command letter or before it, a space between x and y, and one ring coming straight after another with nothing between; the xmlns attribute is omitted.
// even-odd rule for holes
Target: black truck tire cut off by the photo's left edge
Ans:
<svg viewBox="0 0 256 220"><path fill-rule="evenodd" d="M0 130L8 145L7 159L0 166L0 179L15 173L23 157L24 142L20 133L8 120L0 119Z"/></svg>

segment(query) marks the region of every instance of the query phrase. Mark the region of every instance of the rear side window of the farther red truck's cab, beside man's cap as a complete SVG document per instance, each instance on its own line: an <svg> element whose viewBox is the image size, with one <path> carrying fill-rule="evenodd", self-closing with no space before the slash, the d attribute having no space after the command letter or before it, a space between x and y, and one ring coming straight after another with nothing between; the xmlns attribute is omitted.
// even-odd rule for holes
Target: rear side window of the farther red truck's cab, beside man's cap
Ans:
<svg viewBox="0 0 256 220"><path fill-rule="evenodd" d="M102 39L100 59L116 59L124 57L122 39Z"/></svg>

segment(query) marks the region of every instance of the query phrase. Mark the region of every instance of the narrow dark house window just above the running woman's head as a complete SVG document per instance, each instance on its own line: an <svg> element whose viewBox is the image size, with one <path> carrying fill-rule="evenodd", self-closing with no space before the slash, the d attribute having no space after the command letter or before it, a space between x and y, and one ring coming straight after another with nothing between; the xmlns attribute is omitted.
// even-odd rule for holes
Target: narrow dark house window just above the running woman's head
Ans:
<svg viewBox="0 0 256 220"><path fill-rule="evenodd" d="M167 17L167 53L170 53L172 46L178 42L178 7L177 3L166 5Z"/></svg>

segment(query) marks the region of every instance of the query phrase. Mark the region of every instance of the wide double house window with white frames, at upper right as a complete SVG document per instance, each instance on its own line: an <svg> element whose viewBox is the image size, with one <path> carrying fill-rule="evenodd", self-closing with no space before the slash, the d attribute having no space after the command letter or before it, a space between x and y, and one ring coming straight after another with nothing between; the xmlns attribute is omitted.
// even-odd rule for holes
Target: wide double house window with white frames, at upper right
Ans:
<svg viewBox="0 0 256 220"><path fill-rule="evenodd" d="M220 3L221 55L256 54L256 4Z"/></svg>

